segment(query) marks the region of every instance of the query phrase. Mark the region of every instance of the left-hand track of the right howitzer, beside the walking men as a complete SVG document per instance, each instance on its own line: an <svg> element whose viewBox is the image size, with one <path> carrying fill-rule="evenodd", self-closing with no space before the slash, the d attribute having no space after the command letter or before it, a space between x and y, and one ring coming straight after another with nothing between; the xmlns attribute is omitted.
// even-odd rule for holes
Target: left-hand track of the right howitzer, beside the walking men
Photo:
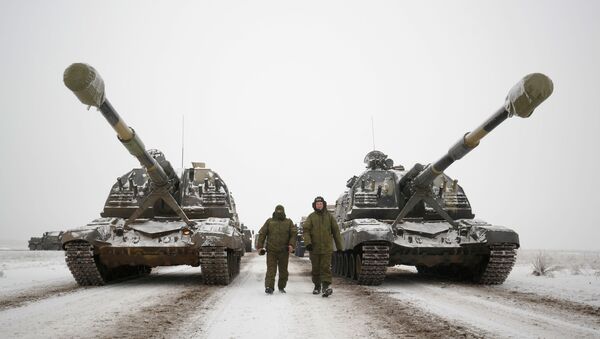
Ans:
<svg viewBox="0 0 600 339"><path fill-rule="evenodd" d="M356 280L360 285L381 285L390 261L390 247L387 245L363 245L360 272Z"/></svg>

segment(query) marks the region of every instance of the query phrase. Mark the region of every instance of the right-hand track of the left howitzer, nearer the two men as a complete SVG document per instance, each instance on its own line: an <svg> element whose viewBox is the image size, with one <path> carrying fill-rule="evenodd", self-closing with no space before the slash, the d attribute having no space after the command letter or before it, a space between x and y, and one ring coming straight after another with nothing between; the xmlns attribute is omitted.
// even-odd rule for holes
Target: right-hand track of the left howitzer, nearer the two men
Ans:
<svg viewBox="0 0 600 339"><path fill-rule="evenodd" d="M240 272L240 254L226 247L202 247L199 256L202 279L207 285L229 285Z"/></svg>

